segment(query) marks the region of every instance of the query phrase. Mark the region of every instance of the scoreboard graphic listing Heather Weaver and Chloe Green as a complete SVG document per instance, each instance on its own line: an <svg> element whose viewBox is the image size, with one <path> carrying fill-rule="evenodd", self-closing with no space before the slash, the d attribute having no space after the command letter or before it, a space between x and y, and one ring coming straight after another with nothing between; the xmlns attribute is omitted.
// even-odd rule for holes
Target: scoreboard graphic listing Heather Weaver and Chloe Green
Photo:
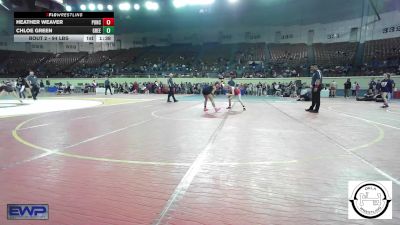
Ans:
<svg viewBox="0 0 400 225"><path fill-rule="evenodd" d="M14 12L14 42L114 42L114 12Z"/></svg>

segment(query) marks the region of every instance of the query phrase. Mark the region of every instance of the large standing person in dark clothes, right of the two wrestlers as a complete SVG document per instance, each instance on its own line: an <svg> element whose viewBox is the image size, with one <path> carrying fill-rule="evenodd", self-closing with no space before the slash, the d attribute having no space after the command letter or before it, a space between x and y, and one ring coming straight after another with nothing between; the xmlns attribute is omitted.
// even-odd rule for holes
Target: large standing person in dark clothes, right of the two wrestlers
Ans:
<svg viewBox="0 0 400 225"><path fill-rule="evenodd" d="M311 104L310 108L306 109L306 111L311 112L311 113L318 113L319 106L321 103L322 73L318 69L317 65L311 66L310 69L311 69L311 72L313 73L313 76L311 79L312 104Z"/></svg>

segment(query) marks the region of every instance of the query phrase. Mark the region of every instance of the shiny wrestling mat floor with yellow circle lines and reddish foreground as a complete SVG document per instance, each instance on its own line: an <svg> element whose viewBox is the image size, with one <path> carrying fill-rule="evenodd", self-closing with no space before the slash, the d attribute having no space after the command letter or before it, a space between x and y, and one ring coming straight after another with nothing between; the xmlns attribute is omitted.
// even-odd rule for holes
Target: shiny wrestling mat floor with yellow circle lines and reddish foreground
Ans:
<svg viewBox="0 0 400 225"><path fill-rule="evenodd" d="M202 96L177 98L42 98L0 115L0 224L400 224L399 101L322 99L313 114L220 97L204 113ZM87 108L54 105L74 101ZM347 219L357 180L392 181L392 220ZM49 204L49 220L7 220L13 203Z"/></svg>

